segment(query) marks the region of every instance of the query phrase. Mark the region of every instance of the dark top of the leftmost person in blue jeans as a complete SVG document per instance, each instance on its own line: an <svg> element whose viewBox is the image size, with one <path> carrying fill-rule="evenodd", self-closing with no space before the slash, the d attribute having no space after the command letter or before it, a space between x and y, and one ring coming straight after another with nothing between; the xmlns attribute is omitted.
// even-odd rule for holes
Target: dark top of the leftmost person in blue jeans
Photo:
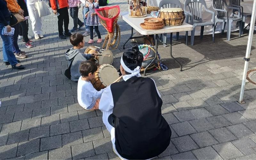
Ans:
<svg viewBox="0 0 256 160"><path fill-rule="evenodd" d="M7 2L5 0L0 0L0 23L7 26L8 21L10 21L10 13L7 8Z"/></svg>

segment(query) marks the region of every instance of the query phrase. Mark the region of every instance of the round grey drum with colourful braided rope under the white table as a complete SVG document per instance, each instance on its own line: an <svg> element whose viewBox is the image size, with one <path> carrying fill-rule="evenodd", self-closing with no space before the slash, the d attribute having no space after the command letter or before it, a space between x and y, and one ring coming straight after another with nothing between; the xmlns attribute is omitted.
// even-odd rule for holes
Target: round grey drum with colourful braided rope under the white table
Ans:
<svg viewBox="0 0 256 160"><path fill-rule="evenodd" d="M146 68L148 64L156 56L155 49L152 46L149 46L147 44L141 44L139 45L139 50L143 54L143 62L142 62L141 68ZM155 62L153 62L152 65L155 65Z"/></svg>

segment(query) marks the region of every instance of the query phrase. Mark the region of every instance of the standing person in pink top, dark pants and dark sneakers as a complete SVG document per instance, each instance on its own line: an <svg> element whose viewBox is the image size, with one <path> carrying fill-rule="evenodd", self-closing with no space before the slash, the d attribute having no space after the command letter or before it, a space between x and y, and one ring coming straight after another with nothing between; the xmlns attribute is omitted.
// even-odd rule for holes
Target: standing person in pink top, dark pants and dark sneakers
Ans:
<svg viewBox="0 0 256 160"><path fill-rule="evenodd" d="M76 32L84 26L84 22L82 22L78 18L78 5L80 3L81 2L79 0L68 0L69 14L74 21L74 27L71 29L71 32ZM77 24L79 26L78 28L77 28Z"/></svg>

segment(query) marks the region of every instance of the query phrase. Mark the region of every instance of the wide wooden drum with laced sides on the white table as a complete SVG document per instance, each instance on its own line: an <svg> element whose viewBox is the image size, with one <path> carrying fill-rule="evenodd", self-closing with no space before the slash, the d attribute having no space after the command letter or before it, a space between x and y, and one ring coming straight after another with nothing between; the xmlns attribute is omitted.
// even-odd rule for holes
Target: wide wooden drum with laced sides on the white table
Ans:
<svg viewBox="0 0 256 160"><path fill-rule="evenodd" d="M185 13L181 8L161 9L158 18L164 20L165 26L180 26L185 20Z"/></svg>

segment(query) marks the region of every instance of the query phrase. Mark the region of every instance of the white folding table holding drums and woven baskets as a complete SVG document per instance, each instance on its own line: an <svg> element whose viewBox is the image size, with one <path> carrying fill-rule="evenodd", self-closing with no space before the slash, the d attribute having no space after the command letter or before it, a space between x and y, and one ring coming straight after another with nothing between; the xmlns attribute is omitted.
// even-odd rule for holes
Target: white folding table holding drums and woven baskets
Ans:
<svg viewBox="0 0 256 160"><path fill-rule="evenodd" d="M183 23L180 26L164 26L164 28L162 29L158 29L158 30L146 30L140 27L140 23L144 22L145 18L151 18L150 14L147 14L146 17L140 17L140 18L134 18L134 17L129 17L128 12L121 12L121 18L128 23L131 27L132 27L132 34L131 36L128 38L128 40L124 43L124 45L130 40L130 39L136 39L136 38L141 38L141 37L145 37L148 38L147 35L156 35L156 56L157 56L157 47L158 47L158 34L163 34L163 33L171 33L171 37L170 37L170 56L171 58L173 58L179 65L180 65L180 71L182 71L182 66L180 64L180 62L178 60L176 60L173 56L172 56L172 33L173 32L182 32L182 31L191 31L193 30L193 26L187 23ZM133 35L133 28L139 32L141 35L143 36L139 36L139 37L132 37ZM124 46L123 46L124 48ZM145 68L144 70L144 75L146 75L146 70L147 68L153 63L153 61L156 60L156 56L155 58L148 64L148 66ZM166 59L163 59L166 60ZM163 61L163 60L159 60L159 61ZM158 60L156 60L158 61Z"/></svg>

